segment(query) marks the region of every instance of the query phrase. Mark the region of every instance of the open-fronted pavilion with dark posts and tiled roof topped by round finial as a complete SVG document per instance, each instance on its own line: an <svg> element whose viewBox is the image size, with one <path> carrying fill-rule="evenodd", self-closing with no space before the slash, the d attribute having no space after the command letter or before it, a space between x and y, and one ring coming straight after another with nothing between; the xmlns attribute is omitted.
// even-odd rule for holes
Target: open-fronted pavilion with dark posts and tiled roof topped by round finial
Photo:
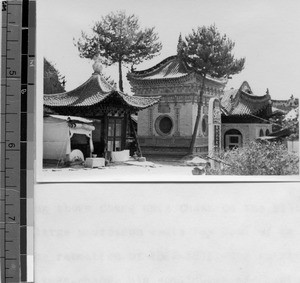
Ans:
<svg viewBox="0 0 300 283"><path fill-rule="evenodd" d="M44 94L44 116L64 115L91 120L94 128L85 128L92 129L89 133L93 143L83 140L89 139L88 134L79 137L77 132L69 127L72 134L70 145L73 145L71 150L81 147L85 157L92 153L106 157L109 152L130 148L130 144L136 140L131 115L157 104L159 96L130 96L117 91L103 77L99 63L95 62L93 68L92 76L74 90ZM68 123L70 126L70 121ZM51 136L51 133L47 133L47 136ZM137 149L139 151L138 144Z"/></svg>

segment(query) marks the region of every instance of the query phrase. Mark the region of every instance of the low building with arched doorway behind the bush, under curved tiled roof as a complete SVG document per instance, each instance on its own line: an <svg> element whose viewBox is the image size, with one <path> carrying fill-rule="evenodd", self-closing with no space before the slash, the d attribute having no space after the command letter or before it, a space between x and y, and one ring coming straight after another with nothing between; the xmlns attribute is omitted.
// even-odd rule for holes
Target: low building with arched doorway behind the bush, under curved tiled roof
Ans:
<svg viewBox="0 0 300 283"><path fill-rule="evenodd" d="M221 98L222 148L242 147L272 132L268 119L272 116L271 97L254 95L249 84L224 92Z"/></svg>

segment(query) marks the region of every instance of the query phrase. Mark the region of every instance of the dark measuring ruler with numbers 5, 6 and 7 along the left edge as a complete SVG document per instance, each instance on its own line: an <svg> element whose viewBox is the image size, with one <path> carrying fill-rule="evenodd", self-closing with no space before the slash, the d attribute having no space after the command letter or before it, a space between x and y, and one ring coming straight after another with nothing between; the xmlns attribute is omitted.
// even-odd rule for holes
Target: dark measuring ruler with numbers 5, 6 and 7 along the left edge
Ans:
<svg viewBox="0 0 300 283"><path fill-rule="evenodd" d="M35 1L2 1L1 282L33 282Z"/></svg>

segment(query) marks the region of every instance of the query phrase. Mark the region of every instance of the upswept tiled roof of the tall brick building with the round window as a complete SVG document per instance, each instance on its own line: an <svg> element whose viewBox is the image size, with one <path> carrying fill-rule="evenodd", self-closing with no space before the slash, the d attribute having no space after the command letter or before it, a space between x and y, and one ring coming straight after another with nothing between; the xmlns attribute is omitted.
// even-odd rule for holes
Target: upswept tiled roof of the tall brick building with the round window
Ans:
<svg viewBox="0 0 300 283"><path fill-rule="evenodd" d="M141 70L133 70L128 73L127 78L129 81L161 81L161 80L175 80L175 79L188 79L190 76L196 76L201 78L201 75L196 73L190 68L180 57L177 55L170 56L157 65ZM219 84L225 84L226 79L212 78L207 76L208 80L217 82Z"/></svg>

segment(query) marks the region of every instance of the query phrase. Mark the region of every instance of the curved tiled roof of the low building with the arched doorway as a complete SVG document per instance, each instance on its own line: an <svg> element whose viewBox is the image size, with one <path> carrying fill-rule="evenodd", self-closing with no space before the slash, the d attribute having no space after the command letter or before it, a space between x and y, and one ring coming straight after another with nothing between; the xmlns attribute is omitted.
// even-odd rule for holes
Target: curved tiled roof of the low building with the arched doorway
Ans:
<svg viewBox="0 0 300 283"><path fill-rule="evenodd" d="M271 97L267 93L257 96L247 82L243 82L239 89L224 92L221 106L226 116L256 115L271 107Z"/></svg>

